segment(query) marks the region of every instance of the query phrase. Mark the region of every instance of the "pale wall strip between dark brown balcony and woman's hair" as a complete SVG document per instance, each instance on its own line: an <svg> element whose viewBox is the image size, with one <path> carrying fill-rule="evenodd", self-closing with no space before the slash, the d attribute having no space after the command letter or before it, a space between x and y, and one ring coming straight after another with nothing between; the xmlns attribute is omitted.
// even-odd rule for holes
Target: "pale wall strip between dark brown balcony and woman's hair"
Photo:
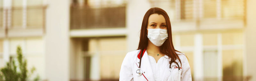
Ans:
<svg viewBox="0 0 256 81"><path fill-rule="evenodd" d="M143 5L142 5L143 4ZM127 49L133 51L138 48L140 28L145 13L150 9L148 0L128 0L126 7Z"/></svg>

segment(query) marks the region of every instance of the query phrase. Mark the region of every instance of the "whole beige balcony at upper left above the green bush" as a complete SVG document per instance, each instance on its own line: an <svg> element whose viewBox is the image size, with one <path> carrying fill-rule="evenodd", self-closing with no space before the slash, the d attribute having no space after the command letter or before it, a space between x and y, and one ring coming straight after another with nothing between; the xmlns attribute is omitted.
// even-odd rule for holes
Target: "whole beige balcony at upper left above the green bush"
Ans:
<svg viewBox="0 0 256 81"><path fill-rule="evenodd" d="M0 9L0 38L43 36L46 6Z"/></svg>

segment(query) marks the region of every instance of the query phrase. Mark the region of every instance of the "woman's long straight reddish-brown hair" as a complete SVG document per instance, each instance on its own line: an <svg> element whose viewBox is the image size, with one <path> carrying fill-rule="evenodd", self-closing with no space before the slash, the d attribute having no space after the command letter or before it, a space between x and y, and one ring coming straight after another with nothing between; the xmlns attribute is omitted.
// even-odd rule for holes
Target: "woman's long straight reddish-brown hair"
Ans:
<svg viewBox="0 0 256 81"><path fill-rule="evenodd" d="M158 7L150 8L144 15L141 29L140 29L140 42L139 42L138 49L146 49L148 46L147 27L148 27L148 18L151 14L163 15L165 18L165 22L167 24L168 38L164 41L164 44L162 46L160 46L160 52L171 58L171 61L169 63L175 62L176 59L178 59L180 61L179 56L175 52L177 50L174 49L173 43L172 43L172 29L171 29L170 18L163 9L158 8ZM177 51L177 52L179 52L179 51ZM180 64L181 64L181 62L180 62Z"/></svg>

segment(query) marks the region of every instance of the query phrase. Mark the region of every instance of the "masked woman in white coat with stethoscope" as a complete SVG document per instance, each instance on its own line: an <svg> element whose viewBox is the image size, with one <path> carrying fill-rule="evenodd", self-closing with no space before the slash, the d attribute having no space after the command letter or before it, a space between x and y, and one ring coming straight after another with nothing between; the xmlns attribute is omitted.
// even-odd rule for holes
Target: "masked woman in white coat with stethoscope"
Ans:
<svg viewBox="0 0 256 81"><path fill-rule="evenodd" d="M120 81L191 81L186 55L175 50L171 23L161 8L150 8L142 21L137 50L127 53Z"/></svg>

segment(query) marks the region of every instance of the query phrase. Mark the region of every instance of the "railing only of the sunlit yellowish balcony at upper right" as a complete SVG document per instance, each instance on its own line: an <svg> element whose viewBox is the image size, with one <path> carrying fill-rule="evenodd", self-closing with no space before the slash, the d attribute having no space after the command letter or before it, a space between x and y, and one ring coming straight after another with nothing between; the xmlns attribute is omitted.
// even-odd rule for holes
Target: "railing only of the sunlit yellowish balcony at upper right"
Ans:
<svg viewBox="0 0 256 81"><path fill-rule="evenodd" d="M149 0L157 6L174 12L176 19L244 18L246 0Z"/></svg>

